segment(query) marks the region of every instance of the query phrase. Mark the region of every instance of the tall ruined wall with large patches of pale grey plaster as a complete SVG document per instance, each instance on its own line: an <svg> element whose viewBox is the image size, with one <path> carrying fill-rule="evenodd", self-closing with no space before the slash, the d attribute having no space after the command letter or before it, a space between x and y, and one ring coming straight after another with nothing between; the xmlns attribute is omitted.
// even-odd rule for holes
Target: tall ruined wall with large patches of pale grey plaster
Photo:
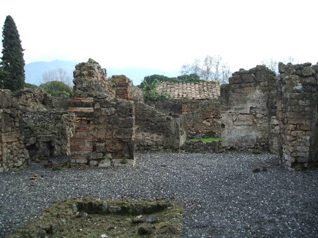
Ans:
<svg viewBox="0 0 318 238"><path fill-rule="evenodd" d="M277 151L275 74L265 66L232 74L221 85L222 146Z"/></svg>

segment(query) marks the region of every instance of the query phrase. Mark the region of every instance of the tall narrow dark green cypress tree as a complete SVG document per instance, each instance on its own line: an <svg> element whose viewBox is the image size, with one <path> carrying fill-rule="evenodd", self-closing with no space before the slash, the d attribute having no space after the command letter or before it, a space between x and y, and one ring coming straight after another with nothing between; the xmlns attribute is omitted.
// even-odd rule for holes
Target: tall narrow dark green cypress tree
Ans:
<svg viewBox="0 0 318 238"><path fill-rule="evenodd" d="M20 36L11 16L7 16L2 31L1 69L7 72L2 88L19 90L24 88L24 59Z"/></svg>

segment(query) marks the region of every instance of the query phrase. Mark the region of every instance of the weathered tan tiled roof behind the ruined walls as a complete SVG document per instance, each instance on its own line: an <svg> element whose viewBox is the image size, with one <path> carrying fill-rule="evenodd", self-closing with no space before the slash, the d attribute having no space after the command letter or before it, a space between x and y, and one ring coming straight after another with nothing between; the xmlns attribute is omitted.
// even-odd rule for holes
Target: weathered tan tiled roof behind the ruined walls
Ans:
<svg viewBox="0 0 318 238"><path fill-rule="evenodd" d="M161 83L157 91L171 98L213 99L220 97L220 84L216 81L200 83Z"/></svg>

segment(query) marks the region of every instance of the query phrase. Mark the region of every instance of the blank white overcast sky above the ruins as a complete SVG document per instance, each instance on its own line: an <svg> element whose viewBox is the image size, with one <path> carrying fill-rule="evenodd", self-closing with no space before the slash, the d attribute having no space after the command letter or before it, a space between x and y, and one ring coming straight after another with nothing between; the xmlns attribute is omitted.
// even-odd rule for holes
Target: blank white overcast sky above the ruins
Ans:
<svg viewBox="0 0 318 238"><path fill-rule="evenodd" d="M179 69L205 55L249 69L318 61L318 1L3 1L26 63L93 58L103 67Z"/></svg>

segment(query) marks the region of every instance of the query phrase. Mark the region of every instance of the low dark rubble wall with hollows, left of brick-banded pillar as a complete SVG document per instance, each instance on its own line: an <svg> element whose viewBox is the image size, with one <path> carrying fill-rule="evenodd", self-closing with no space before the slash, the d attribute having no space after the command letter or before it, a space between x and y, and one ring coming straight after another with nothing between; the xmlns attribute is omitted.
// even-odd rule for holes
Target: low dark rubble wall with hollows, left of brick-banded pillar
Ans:
<svg viewBox="0 0 318 238"><path fill-rule="evenodd" d="M33 160L70 155L74 114L64 110L22 110L24 144Z"/></svg>

